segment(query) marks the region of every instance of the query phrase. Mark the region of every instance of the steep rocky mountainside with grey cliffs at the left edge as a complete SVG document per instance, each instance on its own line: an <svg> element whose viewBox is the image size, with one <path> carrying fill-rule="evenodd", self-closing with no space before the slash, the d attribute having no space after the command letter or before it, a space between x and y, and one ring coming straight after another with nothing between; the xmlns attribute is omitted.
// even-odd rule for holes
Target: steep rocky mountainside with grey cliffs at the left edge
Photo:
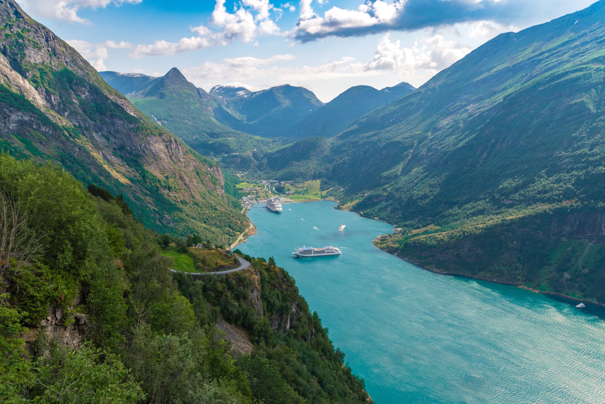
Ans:
<svg viewBox="0 0 605 404"><path fill-rule="evenodd" d="M215 162L151 122L14 1L0 2L0 26L4 151L123 194L161 232L224 242L247 227Z"/></svg>

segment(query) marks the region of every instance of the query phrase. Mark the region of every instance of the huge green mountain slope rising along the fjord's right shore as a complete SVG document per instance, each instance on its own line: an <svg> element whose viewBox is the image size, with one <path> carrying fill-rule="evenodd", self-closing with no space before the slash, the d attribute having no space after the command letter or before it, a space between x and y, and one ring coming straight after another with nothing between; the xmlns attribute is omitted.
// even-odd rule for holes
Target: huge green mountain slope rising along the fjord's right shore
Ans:
<svg viewBox="0 0 605 404"><path fill-rule="evenodd" d="M603 0L499 35L307 164L403 228L394 253L605 302L604 45Z"/></svg>

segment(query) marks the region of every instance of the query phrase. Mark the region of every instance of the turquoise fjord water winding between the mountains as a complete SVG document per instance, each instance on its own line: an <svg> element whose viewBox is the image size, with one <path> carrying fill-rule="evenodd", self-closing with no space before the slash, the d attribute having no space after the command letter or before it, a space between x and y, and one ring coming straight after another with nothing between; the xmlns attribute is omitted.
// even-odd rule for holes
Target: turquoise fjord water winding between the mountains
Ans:
<svg viewBox="0 0 605 404"><path fill-rule="evenodd" d="M251 209L258 234L238 248L292 274L377 404L605 403L603 320L531 291L422 270L373 246L391 225L333 206ZM291 254L329 243L342 255Z"/></svg>

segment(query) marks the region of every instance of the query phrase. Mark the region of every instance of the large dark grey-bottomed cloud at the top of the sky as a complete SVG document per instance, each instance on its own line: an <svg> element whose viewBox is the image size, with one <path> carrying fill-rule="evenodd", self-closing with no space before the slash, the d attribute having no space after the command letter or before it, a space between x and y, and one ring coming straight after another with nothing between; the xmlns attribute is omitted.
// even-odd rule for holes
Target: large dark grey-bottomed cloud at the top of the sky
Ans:
<svg viewBox="0 0 605 404"><path fill-rule="evenodd" d="M548 2L536 1L541 5ZM302 42L327 36L412 31L459 22L510 23L514 16L523 15L529 7L522 0L367 0L355 10L332 7L321 16L313 10L312 3L313 0L300 1L298 22L289 31L290 36ZM477 35L486 29L488 24L483 24L482 28L477 28Z"/></svg>

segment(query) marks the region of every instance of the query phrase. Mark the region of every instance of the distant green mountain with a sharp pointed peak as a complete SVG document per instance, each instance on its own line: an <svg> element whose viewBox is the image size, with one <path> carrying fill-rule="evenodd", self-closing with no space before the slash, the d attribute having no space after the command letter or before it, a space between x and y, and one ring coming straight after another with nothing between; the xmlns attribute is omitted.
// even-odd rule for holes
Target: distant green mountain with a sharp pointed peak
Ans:
<svg viewBox="0 0 605 404"><path fill-rule="evenodd" d="M220 107L206 91L187 81L177 68L161 77L116 71L101 71L99 75L198 153L230 154L263 149L270 144L266 139L217 122L214 110Z"/></svg>

